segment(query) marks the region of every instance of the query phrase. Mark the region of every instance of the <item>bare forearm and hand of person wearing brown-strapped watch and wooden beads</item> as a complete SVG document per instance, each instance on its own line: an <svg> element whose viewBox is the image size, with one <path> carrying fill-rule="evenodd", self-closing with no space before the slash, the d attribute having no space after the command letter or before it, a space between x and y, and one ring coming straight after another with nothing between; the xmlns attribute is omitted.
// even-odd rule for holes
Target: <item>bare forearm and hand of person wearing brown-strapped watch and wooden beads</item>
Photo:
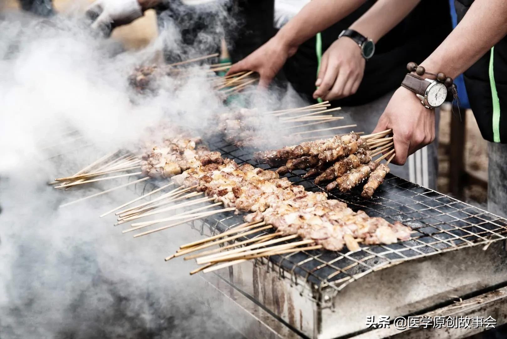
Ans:
<svg viewBox="0 0 507 339"><path fill-rule="evenodd" d="M428 72L443 72L455 78L507 35L505 18L505 0L476 0L463 20L422 65ZM414 93L400 87L374 132L387 128L393 130L396 150L392 162L404 164L408 155L433 141L434 113L424 108Z"/></svg>

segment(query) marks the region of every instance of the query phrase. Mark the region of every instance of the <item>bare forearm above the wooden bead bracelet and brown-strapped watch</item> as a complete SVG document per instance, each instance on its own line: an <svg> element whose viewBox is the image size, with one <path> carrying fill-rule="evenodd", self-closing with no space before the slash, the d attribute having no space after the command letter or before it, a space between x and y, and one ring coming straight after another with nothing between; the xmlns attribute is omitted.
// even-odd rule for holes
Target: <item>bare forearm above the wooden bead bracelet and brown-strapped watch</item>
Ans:
<svg viewBox="0 0 507 339"><path fill-rule="evenodd" d="M507 2L476 0L463 20L421 65L455 78L507 35Z"/></svg>

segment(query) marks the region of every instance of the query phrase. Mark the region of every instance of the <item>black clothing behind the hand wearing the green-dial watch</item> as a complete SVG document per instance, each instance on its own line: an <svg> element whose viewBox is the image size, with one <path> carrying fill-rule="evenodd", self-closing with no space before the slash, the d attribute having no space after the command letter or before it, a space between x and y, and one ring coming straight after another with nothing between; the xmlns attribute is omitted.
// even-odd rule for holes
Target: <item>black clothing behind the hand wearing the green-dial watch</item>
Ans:
<svg viewBox="0 0 507 339"><path fill-rule="evenodd" d="M348 28L375 4L367 1L345 19L321 32L322 54ZM369 103L400 87L407 74L407 63L422 62L452 30L447 0L422 0L405 20L394 27L376 45L375 55L366 62L363 81L354 95L336 100L337 106L359 106ZM348 38L347 38L348 39ZM300 46L287 60L285 77L301 94L311 98L317 76L316 39Z"/></svg>

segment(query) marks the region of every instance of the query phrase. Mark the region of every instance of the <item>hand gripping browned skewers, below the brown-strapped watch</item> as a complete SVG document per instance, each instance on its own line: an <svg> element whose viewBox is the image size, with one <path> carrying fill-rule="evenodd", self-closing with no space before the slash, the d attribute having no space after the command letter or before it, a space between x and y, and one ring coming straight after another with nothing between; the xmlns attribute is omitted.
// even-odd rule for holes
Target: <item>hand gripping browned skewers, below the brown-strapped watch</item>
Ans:
<svg viewBox="0 0 507 339"><path fill-rule="evenodd" d="M373 133L392 129L392 162L403 165L407 157L435 139L435 112L421 105L415 94L404 87L394 92Z"/></svg>

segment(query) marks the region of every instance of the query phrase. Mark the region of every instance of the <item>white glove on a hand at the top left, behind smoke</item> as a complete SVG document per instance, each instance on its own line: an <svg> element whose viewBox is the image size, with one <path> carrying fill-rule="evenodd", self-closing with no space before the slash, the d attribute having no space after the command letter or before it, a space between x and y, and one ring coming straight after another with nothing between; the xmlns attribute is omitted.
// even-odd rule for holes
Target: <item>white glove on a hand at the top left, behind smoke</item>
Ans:
<svg viewBox="0 0 507 339"><path fill-rule="evenodd" d="M116 27L131 23L142 16L142 8L137 0L97 0L88 7L86 13L100 13L92 23L92 28L96 29L106 25Z"/></svg>

